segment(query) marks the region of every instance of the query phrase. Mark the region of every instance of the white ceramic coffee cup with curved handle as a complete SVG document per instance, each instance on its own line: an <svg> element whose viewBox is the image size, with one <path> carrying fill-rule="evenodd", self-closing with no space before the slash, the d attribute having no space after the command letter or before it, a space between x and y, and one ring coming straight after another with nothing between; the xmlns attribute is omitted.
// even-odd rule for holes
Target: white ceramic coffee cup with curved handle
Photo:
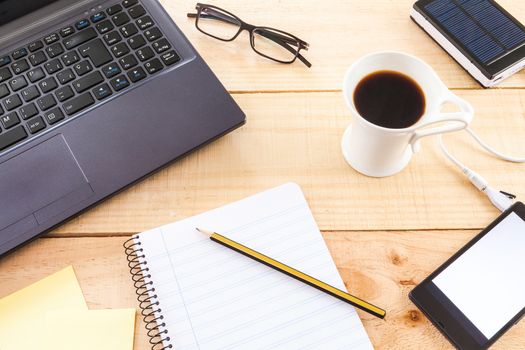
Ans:
<svg viewBox="0 0 525 350"><path fill-rule="evenodd" d="M363 78L378 71L396 71L416 81L425 95L425 111L414 125L390 129L363 118L354 105L354 90ZM434 70L422 60L400 52L380 52L355 62L346 73L343 94L352 113L352 124L346 129L342 148L346 161L368 176L384 177L403 170L426 136L459 131L474 116L467 101L454 95ZM442 106L455 104L459 112L443 113ZM433 127L430 127L433 124Z"/></svg>

